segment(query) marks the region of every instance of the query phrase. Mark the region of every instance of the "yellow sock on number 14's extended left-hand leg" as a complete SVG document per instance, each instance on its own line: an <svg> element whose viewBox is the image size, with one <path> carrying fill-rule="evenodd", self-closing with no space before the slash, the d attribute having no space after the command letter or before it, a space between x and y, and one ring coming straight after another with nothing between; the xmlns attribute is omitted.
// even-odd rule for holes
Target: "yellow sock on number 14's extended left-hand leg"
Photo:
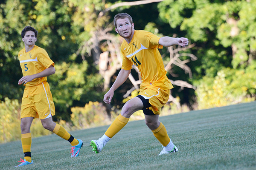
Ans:
<svg viewBox="0 0 256 170"><path fill-rule="evenodd" d="M108 127L108 130L105 132L105 135L109 138L112 138L116 133L118 133L125 125L128 123L129 118L126 118L119 114L113 123Z"/></svg>

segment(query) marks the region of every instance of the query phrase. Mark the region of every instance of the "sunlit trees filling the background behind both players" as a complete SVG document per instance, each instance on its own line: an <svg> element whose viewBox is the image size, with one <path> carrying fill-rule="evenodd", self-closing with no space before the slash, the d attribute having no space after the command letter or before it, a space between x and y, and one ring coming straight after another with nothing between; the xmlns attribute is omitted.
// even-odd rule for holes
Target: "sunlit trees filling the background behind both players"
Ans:
<svg viewBox="0 0 256 170"><path fill-rule="evenodd" d="M23 48L20 32L30 25L38 30L36 44L45 48L55 62L56 72L48 78L58 113L55 120L69 121L71 108L83 108L90 101L102 102L121 68L122 38L113 26L113 17L119 12L131 14L135 29L189 38L188 48L160 50L168 77L175 85L170 101L178 108L184 104L196 109L254 100L256 0L156 1L1 3L0 100L22 97L24 87L17 85L22 77L17 53ZM139 84L139 73L134 68L129 80L115 93L112 104L116 105L116 112ZM113 108L103 106L110 116ZM77 114L78 111L79 108Z"/></svg>

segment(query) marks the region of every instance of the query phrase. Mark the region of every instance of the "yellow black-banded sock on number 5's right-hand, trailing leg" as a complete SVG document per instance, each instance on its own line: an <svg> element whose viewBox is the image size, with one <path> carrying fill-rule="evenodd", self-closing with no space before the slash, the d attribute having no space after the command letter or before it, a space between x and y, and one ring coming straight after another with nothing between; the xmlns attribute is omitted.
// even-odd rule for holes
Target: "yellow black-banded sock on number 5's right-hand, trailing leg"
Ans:
<svg viewBox="0 0 256 170"><path fill-rule="evenodd" d="M70 135L70 133L68 133L67 130L64 129L64 127L62 127L61 125L56 124L52 132L70 142L72 146L76 146L77 144L79 144L78 140Z"/></svg>

